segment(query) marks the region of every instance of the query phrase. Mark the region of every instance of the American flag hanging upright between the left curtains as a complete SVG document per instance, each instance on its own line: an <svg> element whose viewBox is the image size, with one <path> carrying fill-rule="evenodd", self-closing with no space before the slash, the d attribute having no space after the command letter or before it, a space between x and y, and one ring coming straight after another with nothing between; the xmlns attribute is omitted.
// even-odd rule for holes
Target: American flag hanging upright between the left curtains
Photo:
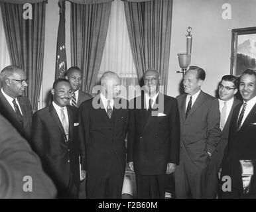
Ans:
<svg viewBox="0 0 256 212"><path fill-rule="evenodd" d="M59 1L59 7L60 23L58 25L55 79L64 78L67 70L65 46L65 0Z"/></svg>

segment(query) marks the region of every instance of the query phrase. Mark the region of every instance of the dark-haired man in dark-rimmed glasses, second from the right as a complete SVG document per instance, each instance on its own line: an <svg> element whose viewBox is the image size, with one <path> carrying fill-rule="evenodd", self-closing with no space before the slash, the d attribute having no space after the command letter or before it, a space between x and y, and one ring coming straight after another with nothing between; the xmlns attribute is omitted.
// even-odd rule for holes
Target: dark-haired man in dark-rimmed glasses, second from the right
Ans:
<svg viewBox="0 0 256 212"><path fill-rule="evenodd" d="M220 129L222 130L221 140L218 143L212 159L206 169L206 190L204 197L215 199L218 193L219 170L224 156L224 150L227 146L229 125L233 109L240 103L235 98L238 90L238 79L232 75L225 75L219 84L219 104L220 104ZM218 195L220 197L220 195Z"/></svg>

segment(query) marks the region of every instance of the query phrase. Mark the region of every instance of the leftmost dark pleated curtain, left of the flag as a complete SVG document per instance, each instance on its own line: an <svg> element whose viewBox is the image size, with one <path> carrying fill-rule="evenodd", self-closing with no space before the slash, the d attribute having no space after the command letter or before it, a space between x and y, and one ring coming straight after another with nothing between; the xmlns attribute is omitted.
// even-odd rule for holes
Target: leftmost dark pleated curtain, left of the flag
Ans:
<svg viewBox="0 0 256 212"><path fill-rule="evenodd" d="M23 5L0 2L11 64L27 74L27 96L38 106L44 59L45 2L32 4L32 19L23 19Z"/></svg>

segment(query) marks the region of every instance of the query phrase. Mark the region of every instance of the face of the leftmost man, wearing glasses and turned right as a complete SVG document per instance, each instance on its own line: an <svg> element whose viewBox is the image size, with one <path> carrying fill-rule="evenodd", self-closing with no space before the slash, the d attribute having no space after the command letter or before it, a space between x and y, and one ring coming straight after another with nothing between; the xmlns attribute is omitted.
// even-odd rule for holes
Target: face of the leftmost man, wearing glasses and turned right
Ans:
<svg viewBox="0 0 256 212"><path fill-rule="evenodd" d="M9 76L9 78L5 79L5 93L7 93L7 95L9 95L10 97L13 97L13 99L24 95L25 93L25 89L28 86L27 83L22 83L21 81L15 81L13 79L16 80L25 80L26 75L25 72L23 72L23 70L15 70L15 72Z"/></svg>

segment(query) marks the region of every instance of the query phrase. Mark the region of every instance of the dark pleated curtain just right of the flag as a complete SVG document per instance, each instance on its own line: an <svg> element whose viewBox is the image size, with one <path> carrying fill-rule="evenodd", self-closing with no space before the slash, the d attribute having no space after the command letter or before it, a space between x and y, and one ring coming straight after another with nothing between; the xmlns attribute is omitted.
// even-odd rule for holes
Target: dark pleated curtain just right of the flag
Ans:
<svg viewBox="0 0 256 212"><path fill-rule="evenodd" d="M83 72L82 90L92 93L105 46L111 1L71 3L71 64Z"/></svg>

